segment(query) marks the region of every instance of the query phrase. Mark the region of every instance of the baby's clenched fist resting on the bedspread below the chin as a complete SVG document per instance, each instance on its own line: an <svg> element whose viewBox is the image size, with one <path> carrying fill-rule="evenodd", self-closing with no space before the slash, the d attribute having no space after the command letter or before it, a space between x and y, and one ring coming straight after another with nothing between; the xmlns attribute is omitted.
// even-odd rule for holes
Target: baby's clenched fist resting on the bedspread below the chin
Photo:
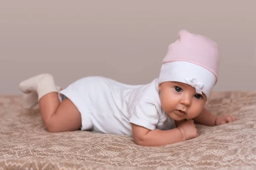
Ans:
<svg viewBox="0 0 256 170"><path fill-rule="evenodd" d="M177 128L180 129L184 140L198 137L198 129L195 127L194 121L192 119L181 122Z"/></svg>

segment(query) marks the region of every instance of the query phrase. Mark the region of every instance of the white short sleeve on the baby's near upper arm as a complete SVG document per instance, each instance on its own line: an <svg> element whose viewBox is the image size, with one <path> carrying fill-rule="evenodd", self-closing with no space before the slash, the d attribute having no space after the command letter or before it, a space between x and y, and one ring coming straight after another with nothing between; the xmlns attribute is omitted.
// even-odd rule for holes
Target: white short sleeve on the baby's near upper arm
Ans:
<svg viewBox="0 0 256 170"><path fill-rule="evenodd" d="M147 101L140 101L130 109L130 123L143 126L149 130L156 129L159 121L159 114L154 104Z"/></svg>

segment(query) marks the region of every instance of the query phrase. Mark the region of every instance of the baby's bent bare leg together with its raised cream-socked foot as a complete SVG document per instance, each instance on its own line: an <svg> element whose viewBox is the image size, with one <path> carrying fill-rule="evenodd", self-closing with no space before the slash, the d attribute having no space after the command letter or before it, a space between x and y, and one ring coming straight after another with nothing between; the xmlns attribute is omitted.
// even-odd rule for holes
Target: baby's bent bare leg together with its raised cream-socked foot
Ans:
<svg viewBox="0 0 256 170"><path fill-rule="evenodd" d="M37 92L41 117L47 130L64 132L80 129L79 111L69 99L60 103L52 75L31 77L21 82L19 88L24 94Z"/></svg>

